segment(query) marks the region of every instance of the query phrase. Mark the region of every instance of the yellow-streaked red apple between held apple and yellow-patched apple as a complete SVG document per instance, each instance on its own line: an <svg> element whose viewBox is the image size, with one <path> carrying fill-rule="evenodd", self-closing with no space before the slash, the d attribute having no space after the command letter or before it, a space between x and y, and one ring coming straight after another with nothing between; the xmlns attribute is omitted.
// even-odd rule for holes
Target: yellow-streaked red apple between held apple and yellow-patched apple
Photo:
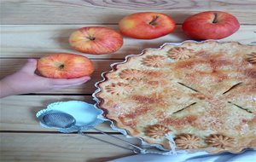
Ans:
<svg viewBox="0 0 256 162"><path fill-rule="evenodd" d="M91 26L73 32L69 43L80 52L100 55L117 51L123 45L123 37L107 27Z"/></svg>

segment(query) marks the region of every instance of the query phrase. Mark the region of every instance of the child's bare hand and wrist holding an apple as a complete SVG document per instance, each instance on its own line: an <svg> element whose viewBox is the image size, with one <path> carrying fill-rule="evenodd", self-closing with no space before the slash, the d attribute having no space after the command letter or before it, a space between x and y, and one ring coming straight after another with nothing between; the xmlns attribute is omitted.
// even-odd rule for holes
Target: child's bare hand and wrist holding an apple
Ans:
<svg viewBox="0 0 256 162"><path fill-rule="evenodd" d="M59 90L70 86L84 84L90 77L81 78L44 78L35 74L37 60L29 59L19 71L0 81L0 98L8 95L34 93L45 90Z"/></svg>

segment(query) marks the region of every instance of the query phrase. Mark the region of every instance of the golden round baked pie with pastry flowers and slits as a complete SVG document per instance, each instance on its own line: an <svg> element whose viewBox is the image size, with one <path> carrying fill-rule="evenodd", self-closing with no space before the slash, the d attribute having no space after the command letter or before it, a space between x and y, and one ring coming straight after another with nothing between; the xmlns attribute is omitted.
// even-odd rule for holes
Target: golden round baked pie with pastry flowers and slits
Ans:
<svg viewBox="0 0 256 162"><path fill-rule="evenodd" d="M171 150L256 149L256 46L184 42L145 49L104 73L97 107L130 136Z"/></svg>

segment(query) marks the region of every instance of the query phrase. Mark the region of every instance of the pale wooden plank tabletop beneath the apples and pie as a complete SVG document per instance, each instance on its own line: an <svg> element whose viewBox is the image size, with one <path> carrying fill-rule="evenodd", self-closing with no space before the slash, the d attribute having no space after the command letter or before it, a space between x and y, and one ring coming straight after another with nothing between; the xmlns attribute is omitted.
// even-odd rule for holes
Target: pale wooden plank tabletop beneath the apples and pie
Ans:
<svg viewBox="0 0 256 162"><path fill-rule="evenodd" d="M183 20L190 14L206 10L229 12L241 22L238 32L220 41L256 42L255 0L2 0L1 78L22 67L27 58L40 58L55 52L81 54L68 44L68 36L79 27L107 26L118 30L118 22L126 14L157 11L172 15L177 22L177 29L166 37L154 40L125 38L124 46L114 54L85 55L96 67L89 83L66 90L1 99L1 160L92 162L133 154L90 137L44 129L38 124L35 114L55 101L80 100L94 103L91 96L96 90L94 84L102 79L101 73L108 71L110 64L123 61L125 55L139 54L146 48L158 48L162 43L189 39L181 30ZM111 130L108 123L100 124L97 128L124 137ZM94 130L88 130L87 134L111 140Z"/></svg>

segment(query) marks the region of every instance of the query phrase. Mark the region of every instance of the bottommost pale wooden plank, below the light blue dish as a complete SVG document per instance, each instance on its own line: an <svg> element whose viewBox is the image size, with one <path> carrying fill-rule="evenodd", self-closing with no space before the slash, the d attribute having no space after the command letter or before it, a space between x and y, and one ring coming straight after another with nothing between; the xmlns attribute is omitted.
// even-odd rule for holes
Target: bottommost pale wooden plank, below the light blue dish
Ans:
<svg viewBox="0 0 256 162"><path fill-rule="evenodd" d="M133 154L124 148L118 148L88 136L70 134L26 134L0 133L1 161L107 161ZM90 135L108 142L112 138L103 135ZM124 138L124 136L119 136ZM125 138L124 138L125 139ZM136 140L127 139L137 143ZM127 145L123 144L127 147Z"/></svg>

